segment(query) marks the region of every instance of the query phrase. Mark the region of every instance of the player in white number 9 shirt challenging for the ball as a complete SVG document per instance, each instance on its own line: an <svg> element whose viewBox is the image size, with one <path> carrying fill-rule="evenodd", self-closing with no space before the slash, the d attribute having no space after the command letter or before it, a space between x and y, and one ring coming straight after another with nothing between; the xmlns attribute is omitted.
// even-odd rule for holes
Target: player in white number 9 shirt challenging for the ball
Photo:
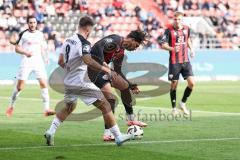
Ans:
<svg viewBox="0 0 240 160"><path fill-rule="evenodd" d="M56 129L76 108L78 97L85 104L93 104L101 110L104 122L115 136L117 145L121 145L133 138L133 135L122 134L120 132L110 104L104 98L101 90L88 78L87 66L94 70L102 71L109 77L116 76L116 73L111 71L107 65L101 65L91 58L91 44L87 41L87 37L92 31L93 26L94 22L90 17L82 17L79 21L78 34L67 38L63 43L58 64L65 71L65 106L56 114L50 128L44 135L47 145L54 145Z"/></svg>

